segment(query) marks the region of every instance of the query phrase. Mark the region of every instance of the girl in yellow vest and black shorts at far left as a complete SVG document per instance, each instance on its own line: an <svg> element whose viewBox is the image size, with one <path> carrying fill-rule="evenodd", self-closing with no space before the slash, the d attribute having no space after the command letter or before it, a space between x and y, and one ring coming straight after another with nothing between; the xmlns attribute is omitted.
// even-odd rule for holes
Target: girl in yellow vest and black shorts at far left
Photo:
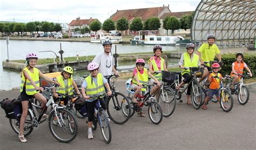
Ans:
<svg viewBox="0 0 256 150"><path fill-rule="evenodd" d="M26 55L26 67L22 71L22 81L20 86L21 99L22 99L22 117L19 121L19 140L21 142L27 142L23 135L23 128L26 116L28 115L29 99L34 96L36 99L41 101L41 107L43 108L46 104L46 98L39 93L39 91L44 91L43 87L39 85L39 77L44 78L50 83L55 83L47 76L45 76L41 71L39 71L35 66L37 63L37 55L35 53L29 53ZM48 115L44 114L43 118L47 118Z"/></svg>

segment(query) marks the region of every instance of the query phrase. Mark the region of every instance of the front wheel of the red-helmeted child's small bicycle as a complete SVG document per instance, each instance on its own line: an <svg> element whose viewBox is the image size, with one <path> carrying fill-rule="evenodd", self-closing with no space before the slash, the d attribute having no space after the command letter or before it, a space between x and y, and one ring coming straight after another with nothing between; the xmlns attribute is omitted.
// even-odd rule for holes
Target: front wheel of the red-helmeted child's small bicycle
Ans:
<svg viewBox="0 0 256 150"><path fill-rule="evenodd" d="M232 110L234 105L234 100L230 92L227 90L220 91L220 107L224 112L229 112Z"/></svg>

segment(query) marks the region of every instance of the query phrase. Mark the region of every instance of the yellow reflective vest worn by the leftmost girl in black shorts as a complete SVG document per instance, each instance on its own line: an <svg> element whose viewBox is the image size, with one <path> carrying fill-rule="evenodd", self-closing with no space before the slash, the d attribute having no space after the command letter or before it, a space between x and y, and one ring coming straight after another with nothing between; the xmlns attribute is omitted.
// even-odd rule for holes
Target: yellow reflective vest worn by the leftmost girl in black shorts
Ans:
<svg viewBox="0 0 256 150"><path fill-rule="evenodd" d="M39 70L37 68L33 68L33 73L30 72L30 70L25 67L23 70L22 70L22 81L21 81L21 89L20 91L22 92L23 91L23 86L24 86L24 83L26 83L26 94L28 94L29 96L35 94L35 93L39 93L39 91L36 91L36 88L30 83L29 79L26 79L25 81L25 76L24 76L24 73L23 71L26 71L28 72L30 78L35 82L35 84L39 87L40 84L39 84Z"/></svg>

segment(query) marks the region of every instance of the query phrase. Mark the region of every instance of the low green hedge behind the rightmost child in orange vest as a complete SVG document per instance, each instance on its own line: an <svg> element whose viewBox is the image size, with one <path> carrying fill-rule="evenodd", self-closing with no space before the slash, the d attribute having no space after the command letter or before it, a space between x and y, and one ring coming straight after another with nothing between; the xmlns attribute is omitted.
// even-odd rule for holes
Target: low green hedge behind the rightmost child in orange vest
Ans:
<svg viewBox="0 0 256 150"><path fill-rule="evenodd" d="M221 59L224 63L224 66L221 69L221 74L225 76L225 74L230 74L232 71L232 63L234 63L237 59L235 58L235 54L233 53L227 53L221 55ZM244 54L244 62L248 65L250 68L253 76L255 76L256 73L256 54L252 53L245 53ZM244 73L246 73L247 70L244 69Z"/></svg>

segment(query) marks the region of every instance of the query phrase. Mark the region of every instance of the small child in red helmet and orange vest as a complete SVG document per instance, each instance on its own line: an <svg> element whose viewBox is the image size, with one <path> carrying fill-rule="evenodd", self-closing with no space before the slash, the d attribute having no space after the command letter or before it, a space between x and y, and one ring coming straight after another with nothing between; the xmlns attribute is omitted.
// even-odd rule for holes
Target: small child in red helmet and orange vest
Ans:
<svg viewBox="0 0 256 150"><path fill-rule="evenodd" d="M207 110L207 101L213 97L215 94L216 98L218 101L220 101L220 90L218 89L220 87L220 79L222 78L221 74L218 73L219 71L219 63L213 63L212 64L212 70L213 72L208 76L208 82L210 83L209 90L207 93L207 97L205 98L204 105L203 105L203 110ZM218 76L219 78L214 78L215 76Z"/></svg>

